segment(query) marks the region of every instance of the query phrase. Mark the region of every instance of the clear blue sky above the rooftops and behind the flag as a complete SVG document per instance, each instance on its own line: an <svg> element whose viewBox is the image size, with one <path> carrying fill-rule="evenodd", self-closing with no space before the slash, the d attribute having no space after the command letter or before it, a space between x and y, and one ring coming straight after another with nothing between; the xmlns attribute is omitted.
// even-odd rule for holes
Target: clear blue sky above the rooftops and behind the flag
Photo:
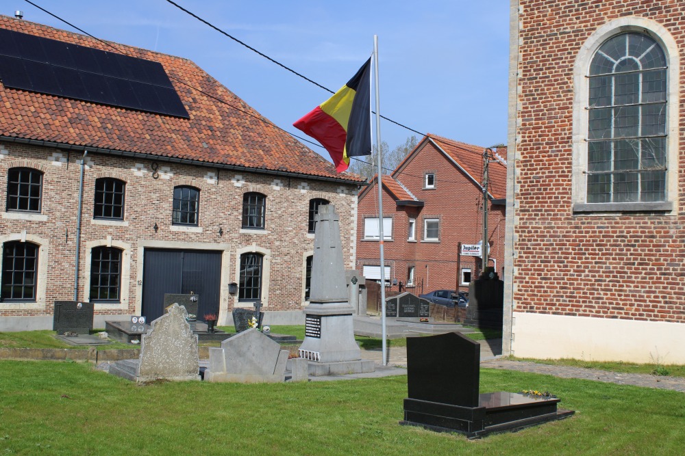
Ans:
<svg viewBox="0 0 685 456"><path fill-rule="evenodd" d="M369 58L377 35L383 116L468 144L506 144L508 0L174 1L333 91ZM190 59L273 124L318 144L292 123L329 92L169 1L32 2L97 38ZM0 14L21 10L26 21L76 31L25 0L0 0L0 6ZM391 149L416 135L387 120L380 132ZM321 146L304 144L328 159Z"/></svg>

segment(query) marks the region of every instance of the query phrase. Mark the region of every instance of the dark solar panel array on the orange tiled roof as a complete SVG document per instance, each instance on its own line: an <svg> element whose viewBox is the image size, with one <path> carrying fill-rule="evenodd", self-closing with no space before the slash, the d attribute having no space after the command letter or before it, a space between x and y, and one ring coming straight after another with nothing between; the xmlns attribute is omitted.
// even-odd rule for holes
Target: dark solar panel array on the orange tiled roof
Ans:
<svg viewBox="0 0 685 456"><path fill-rule="evenodd" d="M5 87L188 118L159 62L0 29Z"/></svg>

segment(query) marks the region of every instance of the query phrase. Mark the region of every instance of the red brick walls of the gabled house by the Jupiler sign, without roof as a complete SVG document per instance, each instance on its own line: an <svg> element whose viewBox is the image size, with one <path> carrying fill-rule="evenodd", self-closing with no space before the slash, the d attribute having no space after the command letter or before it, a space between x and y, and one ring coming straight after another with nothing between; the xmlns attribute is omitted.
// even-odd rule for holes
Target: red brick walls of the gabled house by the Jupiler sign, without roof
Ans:
<svg viewBox="0 0 685 456"><path fill-rule="evenodd" d="M423 189L425 172L435 173L435 189ZM460 271L458 243L474 244L482 239L482 193L464 172L428 143L395 177L419 200L423 208L398 206L384 190L384 217L393 217L393 240L385 241L384 257L390 266L390 278L406 282L407 269L414 266L415 294L435 289L455 289ZM482 176L473 176L480 180ZM488 207L488 239L490 257L497 260L497 272L501 276L504 258L504 206L490 204ZM377 241L364 241L364 217L377 217L378 191L374 187L366 192L358 207L357 268L379 264ZM416 219L416 241L408 241L409 218ZM425 218L440 219L440 241L423 241ZM490 263L492 265L492 263ZM462 256L460 269L471 268L473 279L480 272L480 259ZM421 291L423 284L423 291ZM397 289L397 286L394 287ZM460 290L469 291L468 286Z"/></svg>

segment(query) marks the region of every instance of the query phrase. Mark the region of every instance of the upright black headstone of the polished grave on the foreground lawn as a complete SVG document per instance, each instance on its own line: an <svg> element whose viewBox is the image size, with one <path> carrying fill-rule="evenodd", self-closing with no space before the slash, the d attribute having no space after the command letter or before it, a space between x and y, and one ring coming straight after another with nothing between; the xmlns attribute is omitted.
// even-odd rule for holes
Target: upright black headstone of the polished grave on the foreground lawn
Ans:
<svg viewBox="0 0 685 456"><path fill-rule="evenodd" d="M478 406L480 344L475 340L456 332L408 337L407 360L410 399Z"/></svg>

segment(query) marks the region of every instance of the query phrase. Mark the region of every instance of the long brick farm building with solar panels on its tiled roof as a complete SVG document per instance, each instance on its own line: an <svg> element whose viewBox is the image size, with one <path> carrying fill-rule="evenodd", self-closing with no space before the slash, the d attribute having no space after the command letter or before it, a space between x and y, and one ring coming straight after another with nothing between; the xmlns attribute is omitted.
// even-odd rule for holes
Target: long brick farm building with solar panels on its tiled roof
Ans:
<svg viewBox="0 0 685 456"><path fill-rule="evenodd" d="M220 324L256 299L299 320L327 202L353 267L360 178L188 59L0 16L0 61L0 330L51 328L55 300L93 301L95 327L154 318L191 291Z"/></svg>

